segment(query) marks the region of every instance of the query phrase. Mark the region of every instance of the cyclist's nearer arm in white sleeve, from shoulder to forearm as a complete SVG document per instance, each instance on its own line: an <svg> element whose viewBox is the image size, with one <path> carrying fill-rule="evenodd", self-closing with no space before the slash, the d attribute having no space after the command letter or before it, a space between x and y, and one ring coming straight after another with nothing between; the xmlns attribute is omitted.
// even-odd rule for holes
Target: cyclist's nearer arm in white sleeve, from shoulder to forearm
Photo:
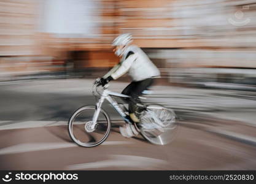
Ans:
<svg viewBox="0 0 256 184"><path fill-rule="evenodd" d="M125 59L125 61L122 62L121 66L118 67L117 71L115 71L113 74L111 74L111 77L113 79L118 79L123 74L125 74L131 67L131 64L133 64L133 61L135 61L137 58L137 53L134 53L128 58Z"/></svg>

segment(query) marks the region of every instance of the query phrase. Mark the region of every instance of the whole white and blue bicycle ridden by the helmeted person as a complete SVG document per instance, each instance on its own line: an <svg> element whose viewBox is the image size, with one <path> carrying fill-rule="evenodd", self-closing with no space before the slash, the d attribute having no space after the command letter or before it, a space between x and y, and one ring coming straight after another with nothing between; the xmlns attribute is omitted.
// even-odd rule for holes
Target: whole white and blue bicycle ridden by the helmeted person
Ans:
<svg viewBox="0 0 256 184"><path fill-rule="evenodd" d="M113 98L130 98L125 94L115 93L107 90L108 84L101 86L102 93L99 93L99 80L93 84L92 93L96 98L96 105L85 105L77 109L68 122L68 132L71 139L82 147L95 147L102 144L111 132L111 119L105 110L102 109L103 102L107 100L112 107L123 118L126 126L130 126L133 136L142 137L152 144L165 145L171 142L177 129L176 114L159 104L138 104L140 109L140 123L133 123L128 115L124 104L118 104ZM144 99L143 97L140 97ZM76 133L76 134L75 134ZM79 138L82 136L82 138Z"/></svg>

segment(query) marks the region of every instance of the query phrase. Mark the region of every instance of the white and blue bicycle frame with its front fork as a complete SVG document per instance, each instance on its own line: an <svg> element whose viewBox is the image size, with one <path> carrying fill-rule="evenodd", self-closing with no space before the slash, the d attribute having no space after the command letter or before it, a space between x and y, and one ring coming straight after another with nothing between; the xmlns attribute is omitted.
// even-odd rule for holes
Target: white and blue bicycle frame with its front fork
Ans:
<svg viewBox="0 0 256 184"><path fill-rule="evenodd" d="M96 103L96 110L95 113L93 115L93 124L91 125L92 128L95 128L96 126L96 122L98 120L98 116L99 116L99 112L101 111L101 106L103 104L103 102L105 101L105 99L114 107L115 110L117 110L117 112L119 113L119 115L126 121L126 122L130 122L130 120L128 120L128 118L126 118L126 114L123 111L123 109L118 105L117 101L115 101L114 98L112 98L111 96L118 96L121 98L131 98L130 96L127 96L125 94L120 94L120 93L115 93L109 90L104 90L101 98L99 98L99 101Z"/></svg>

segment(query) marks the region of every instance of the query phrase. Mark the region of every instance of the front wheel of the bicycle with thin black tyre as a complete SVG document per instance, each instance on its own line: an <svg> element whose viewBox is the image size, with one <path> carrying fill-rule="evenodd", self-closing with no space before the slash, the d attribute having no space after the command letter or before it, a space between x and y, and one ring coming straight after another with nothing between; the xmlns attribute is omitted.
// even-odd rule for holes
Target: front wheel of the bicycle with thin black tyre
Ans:
<svg viewBox="0 0 256 184"><path fill-rule="evenodd" d="M68 131L71 139L82 147L95 147L104 142L111 131L111 121L101 109L95 129L89 129L95 113L95 106L84 106L77 109L69 119Z"/></svg>

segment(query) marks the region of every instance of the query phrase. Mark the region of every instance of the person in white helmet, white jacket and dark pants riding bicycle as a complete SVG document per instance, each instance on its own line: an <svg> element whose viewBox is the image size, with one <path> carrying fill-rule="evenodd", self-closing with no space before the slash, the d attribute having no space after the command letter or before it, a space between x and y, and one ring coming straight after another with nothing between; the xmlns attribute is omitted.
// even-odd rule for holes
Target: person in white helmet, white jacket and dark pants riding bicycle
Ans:
<svg viewBox="0 0 256 184"><path fill-rule="evenodd" d="M133 38L131 34L121 34L114 39L115 55L120 58L120 63L115 65L111 71L104 75L100 83L106 85L111 80L116 80L126 72L129 72L132 82L126 86L122 94L131 96L128 99L129 114L134 123L139 123L136 117L136 104L142 91L147 90L153 83L153 78L160 77L160 71L148 56L136 45L131 45Z"/></svg>

